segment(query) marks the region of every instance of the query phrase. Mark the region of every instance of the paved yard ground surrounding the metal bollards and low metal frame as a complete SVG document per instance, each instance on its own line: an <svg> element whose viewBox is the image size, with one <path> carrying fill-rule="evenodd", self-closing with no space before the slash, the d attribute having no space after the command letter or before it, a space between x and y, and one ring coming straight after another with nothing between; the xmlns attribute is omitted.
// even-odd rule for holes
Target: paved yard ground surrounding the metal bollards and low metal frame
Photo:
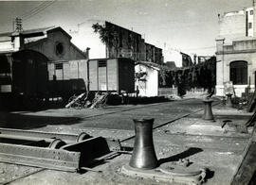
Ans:
<svg viewBox="0 0 256 185"><path fill-rule="evenodd" d="M48 109L10 114L1 112L0 126L74 134L85 131L92 136L124 140L134 136L132 119L152 117L155 118L154 143L158 160L166 164L171 162L171 165L175 160L189 159L192 161L191 168L210 169L206 184L226 185L242 160L251 133L251 128L248 133L244 133L244 124L251 113L225 108L218 101L215 104L215 122L201 119L202 100L193 98L105 109ZM232 122L223 126L225 119ZM133 147L133 143L134 140L130 139L121 144ZM11 184L170 184L121 175L120 167L128 163L130 157L121 155L96 166L94 169L102 170L101 174L86 172L82 175L43 170L23 177L41 169L0 163L1 169L4 169L0 171L0 182L13 179ZM13 176L9 176L10 172Z"/></svg>

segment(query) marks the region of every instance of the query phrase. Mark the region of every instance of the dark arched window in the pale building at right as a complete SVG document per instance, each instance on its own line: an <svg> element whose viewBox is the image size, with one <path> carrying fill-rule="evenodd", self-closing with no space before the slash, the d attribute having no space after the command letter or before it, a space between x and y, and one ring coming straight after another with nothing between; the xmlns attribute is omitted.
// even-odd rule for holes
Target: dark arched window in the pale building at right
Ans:
<svg viewBox="0 0 256 185"><path fill-rule="evenodd" d="M230 63L230 81L234 85L247 84L247 61L232 61Z"/></svg>

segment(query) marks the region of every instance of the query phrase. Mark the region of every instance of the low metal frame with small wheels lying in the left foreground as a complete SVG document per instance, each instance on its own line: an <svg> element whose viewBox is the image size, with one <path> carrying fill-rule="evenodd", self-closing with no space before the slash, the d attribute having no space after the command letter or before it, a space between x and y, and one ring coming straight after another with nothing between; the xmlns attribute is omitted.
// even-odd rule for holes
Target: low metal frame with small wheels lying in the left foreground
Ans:
<svg viewBox="0 0 256 185"><path fill-rule="evenodd" d="M0 161L79 172L119 155L119 140L79 135L0 129Z"/></svg>

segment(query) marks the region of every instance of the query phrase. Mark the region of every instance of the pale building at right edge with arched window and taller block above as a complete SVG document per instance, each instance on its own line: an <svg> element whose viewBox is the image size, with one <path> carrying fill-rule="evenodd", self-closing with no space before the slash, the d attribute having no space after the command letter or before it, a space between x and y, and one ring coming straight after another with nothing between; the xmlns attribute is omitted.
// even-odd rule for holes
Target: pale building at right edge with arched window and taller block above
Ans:
<svg viewBox="0 0 256 185"><path fill-rule="evenodd" d="M216 94L225 95L224 84L232 81L234 92L241 96L246 88L254 89L256 72L255 5L219 16L216 38Z"/></svg>

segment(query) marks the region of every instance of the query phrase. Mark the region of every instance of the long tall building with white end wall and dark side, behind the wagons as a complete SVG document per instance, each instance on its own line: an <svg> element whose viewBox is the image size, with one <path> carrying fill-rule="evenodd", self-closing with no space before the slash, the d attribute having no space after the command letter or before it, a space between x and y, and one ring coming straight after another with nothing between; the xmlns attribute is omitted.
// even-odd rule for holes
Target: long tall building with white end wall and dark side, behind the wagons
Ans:
<svg viewBox="0 0 256 185"><path fill-rule="evenodd" d="M95 33L92 25L98 23L110 30L110 44L101 42L100 34ZM163 63L162 49L145 42L142 36L130 29L110 22L91 22L80 25L79 31L70 33L80 48L90 47L91 59L129 58L135 61ZM86 42L82 42L86 38Z"/></svg>

